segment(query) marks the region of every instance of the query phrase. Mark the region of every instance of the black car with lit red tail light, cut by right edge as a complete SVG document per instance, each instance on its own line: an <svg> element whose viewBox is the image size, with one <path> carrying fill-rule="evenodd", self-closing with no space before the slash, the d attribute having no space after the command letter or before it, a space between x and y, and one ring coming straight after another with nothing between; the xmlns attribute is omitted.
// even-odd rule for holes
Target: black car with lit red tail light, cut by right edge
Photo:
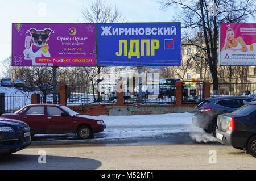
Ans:
<svg viewBox="0 0 256 181"><path fill-rule="evenodd" d="M219 115L216 137L218 142L246 150L256 157L256 101Z"/></svg>

